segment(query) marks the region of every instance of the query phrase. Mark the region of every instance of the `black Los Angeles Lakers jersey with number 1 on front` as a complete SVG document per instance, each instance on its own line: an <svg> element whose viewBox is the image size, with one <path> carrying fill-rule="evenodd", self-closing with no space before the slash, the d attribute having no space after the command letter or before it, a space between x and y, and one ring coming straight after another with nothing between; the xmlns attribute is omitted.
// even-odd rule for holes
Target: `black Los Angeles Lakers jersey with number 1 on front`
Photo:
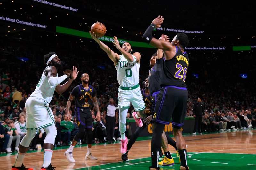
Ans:
<svg viewBox="0 0 256 170"><path fill-rule="evenodd" d="M72 96L75 96L76 107L90 108L92 105L92 97L96 96L96 90L89 85L89 89L84 89L83 85L76 86L72 92Z"/></svg>

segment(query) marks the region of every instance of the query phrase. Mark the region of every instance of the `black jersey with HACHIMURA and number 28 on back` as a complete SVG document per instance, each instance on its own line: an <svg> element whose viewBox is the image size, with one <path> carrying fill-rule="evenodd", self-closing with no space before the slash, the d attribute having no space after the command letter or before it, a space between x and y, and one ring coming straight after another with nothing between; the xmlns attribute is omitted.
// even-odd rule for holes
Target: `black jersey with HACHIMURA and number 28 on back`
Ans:
<svg viewBox="0 0 256 170"><path fill-rule="evenodd" d="M179 47L175 47L176 55L172 59L164 61L161 87L168 85L187 87L185 81L189 64L188 54L186 52L182 53Z"/></svg>

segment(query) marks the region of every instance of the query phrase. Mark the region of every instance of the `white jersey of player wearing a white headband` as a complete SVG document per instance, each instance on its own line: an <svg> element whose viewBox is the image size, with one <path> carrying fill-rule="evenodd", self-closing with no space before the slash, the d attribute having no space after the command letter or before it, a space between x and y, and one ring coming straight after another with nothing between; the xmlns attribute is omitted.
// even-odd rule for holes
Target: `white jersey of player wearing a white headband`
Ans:
<svg viewBox="0 0 256 170"><path fill-rule="evenodd" d="M51 67L51 66L48 66ZM46 67L44 71L48 68ZM36 90L30 95L31 97L38 97L39 99L45 100L47 103L50 103L52 100L53 93L55 91L56 85L51 86L48 83L48 77L44 75L44 71L42 77L40 78L38 85L36 86ZM57 76L58 77L58 73Z"/></svg>

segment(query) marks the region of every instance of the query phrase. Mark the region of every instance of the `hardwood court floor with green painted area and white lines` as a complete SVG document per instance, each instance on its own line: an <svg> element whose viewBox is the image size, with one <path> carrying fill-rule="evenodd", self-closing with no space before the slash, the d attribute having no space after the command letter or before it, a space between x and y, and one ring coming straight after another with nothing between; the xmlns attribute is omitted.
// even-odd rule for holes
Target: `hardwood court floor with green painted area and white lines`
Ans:
<svg viewBox="0 0 256 170"><path fill-rule="evenodd" d="M73 150L76 163L67 162L64 152L68 147L57 148L53 152L52 165L59 169L148 169L151 165L150 137L141 137L129 151L127 163L122 163L120 144L97 144L92 146L92 154L97 161L86 161L84 156L87 147L78 146ZM185 135L188 148L188 165L191 170L256 170L256 130L240 130L192 136ZM169 146L174 166L161 169L177 170L180 167L175 149ZM0 169L11 169L17 152L0 154ZM28 152L24 159L26 167L40 169L43 163L43 152Z"/></svg>

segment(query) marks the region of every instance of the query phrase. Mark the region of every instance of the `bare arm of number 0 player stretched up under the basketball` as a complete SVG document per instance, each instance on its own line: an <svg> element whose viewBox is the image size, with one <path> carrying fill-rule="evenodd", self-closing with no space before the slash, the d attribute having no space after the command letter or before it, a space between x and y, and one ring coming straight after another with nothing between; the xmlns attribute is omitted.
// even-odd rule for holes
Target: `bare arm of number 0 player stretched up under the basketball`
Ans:
<svg viewBox="0 0 256 170"><path fill-rule="evenodd" d="M114 53L114 51L112 51L106 44L104 44L103 42L101 42L97 37L96 34L94 34L94 32L89 32L92 39L95 40L99 45L100 48L103 49L103 51L105 51L108 54L108 57L114 62L114 64L116 65L119 61L120 56L117 53Z"/></svg>

